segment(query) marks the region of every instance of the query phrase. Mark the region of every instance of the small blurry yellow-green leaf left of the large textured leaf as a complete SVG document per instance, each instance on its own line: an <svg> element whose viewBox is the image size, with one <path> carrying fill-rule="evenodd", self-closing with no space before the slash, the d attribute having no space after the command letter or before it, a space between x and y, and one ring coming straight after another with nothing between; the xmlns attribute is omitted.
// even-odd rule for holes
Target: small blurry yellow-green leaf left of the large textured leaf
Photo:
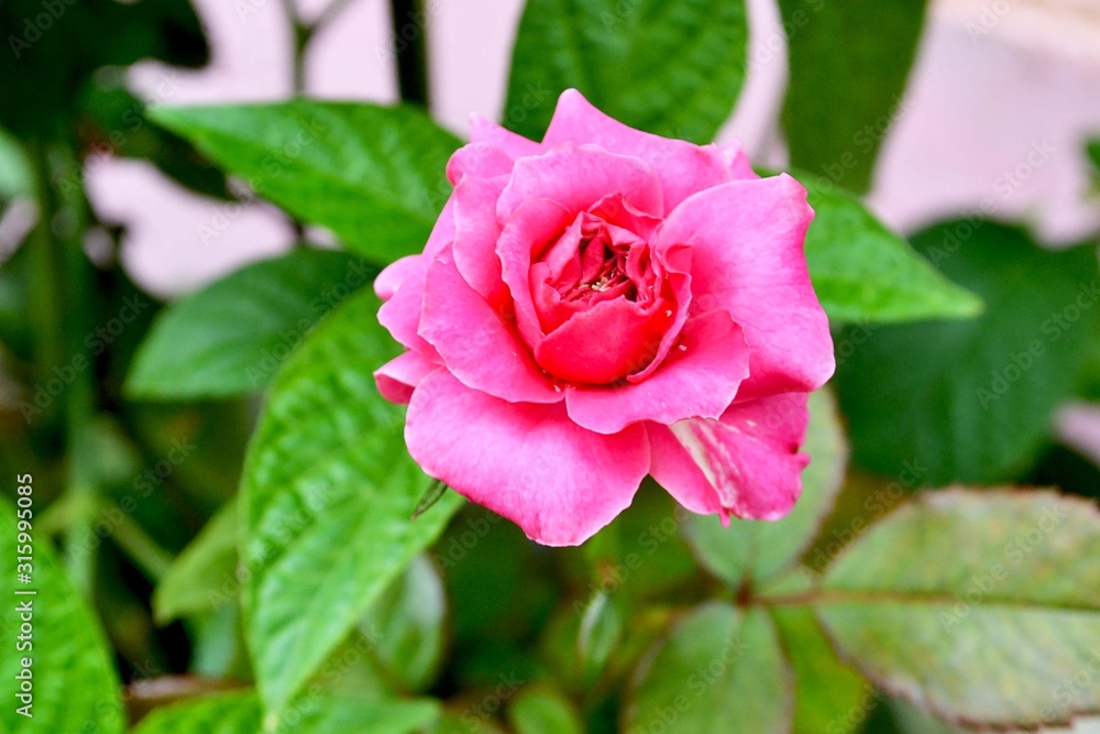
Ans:
<svg viewBox="0 0 1100 734"><path fill-rule="evenodd" d="M237 596L237 501L230 500L184 548L153 593L156 621L210 612Z"/></svg>

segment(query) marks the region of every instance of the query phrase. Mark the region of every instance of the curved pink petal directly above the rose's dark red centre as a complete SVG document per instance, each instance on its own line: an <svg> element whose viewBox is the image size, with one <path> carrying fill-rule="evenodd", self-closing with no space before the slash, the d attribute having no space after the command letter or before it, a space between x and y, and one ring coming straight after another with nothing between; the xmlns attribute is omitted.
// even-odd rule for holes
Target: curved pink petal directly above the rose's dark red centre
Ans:
<svg viewBox="0 0 1100 734"><path fill-rule="evenodd" d="M575 216L610 194L622 194L644 213L664 213L661 183L646 163L594 145L565 143L516 161L512 180L497 202L497 218L507 221L530 199L557 201Z"/></svg>

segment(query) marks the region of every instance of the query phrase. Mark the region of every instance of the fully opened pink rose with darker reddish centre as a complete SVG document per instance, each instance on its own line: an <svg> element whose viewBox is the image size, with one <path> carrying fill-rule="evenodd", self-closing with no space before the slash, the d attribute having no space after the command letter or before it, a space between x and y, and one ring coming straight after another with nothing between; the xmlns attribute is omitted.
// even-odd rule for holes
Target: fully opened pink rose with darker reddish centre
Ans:
<svg viewBox="0 0 1100 734"><path fill-rule="evenodd" d="M541 143L475 118L424 254L378 276L424 470L551 546L652 474L696 513L778 519L833 374L813 210L738 146L639 132L565 91Z"/></svg>

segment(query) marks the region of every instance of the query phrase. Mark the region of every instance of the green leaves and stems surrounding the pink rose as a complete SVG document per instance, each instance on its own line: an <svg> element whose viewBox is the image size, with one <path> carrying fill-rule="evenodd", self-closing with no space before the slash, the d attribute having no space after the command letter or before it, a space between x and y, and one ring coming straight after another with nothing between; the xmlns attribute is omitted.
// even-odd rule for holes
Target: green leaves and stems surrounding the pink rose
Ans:
<svg viewBox="0 0 1100 734"><path fill-rule="evenodd" d="M647 484L553 550L449 492L410 521L431 483L371 377L396 350L371 281L420 250L461 145L428 111L422 24L396 47L403 105L146 110L120 69L207 63L189 2L55 4L0 6L22 42L0 54L0 206L38 212L0 266L0 537L23 543L30 473L41 600L35 716L6 697L0 730L922 734L1100 711L1100 469L1052 432L1100 395L1096 238L1055 252L969 218L906 239L864 206L923 3L779 1L838 361L795 511L726 529ZM395 28L415 12L394 2ZM300 81L331 17L293 20ZM740 0L529 0L503 122L538 138L576 87L708 142L747 37ZM263 197L300 247L160 304L85 197L105 150ZM0 625L7 691L10 605Z"/></svg>

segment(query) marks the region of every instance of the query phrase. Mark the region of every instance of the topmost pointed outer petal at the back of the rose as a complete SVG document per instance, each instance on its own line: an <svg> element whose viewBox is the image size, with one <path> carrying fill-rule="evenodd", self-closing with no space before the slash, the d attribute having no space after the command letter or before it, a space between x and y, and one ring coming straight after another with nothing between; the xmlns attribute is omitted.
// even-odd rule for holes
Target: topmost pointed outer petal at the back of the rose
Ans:
<svg viewBox="0 0 1100 734"><path fill-rule="evenodd" d="M558 99L553 119L542 143L595 143L601 147L641 158L657 172L664 188L666 211L703 189L751 173L744 155L734 149L695 145L635 130L593 107L576 89L566 89ZM740 153L739 147L736 149Z"/></svg>

